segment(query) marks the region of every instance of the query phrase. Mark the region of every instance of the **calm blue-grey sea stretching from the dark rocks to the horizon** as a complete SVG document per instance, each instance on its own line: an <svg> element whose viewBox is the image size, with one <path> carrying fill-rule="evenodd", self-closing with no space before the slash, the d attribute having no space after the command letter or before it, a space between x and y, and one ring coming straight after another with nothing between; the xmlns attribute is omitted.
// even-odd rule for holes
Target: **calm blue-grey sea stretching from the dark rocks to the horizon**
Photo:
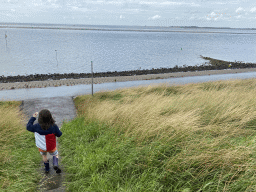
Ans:
<svg viewBox="0 0 256 192"><path fill-rule="evenodd" d="M0 76L90 73L91 61L94 72L200 65L206 62L200 55L256 62L255 30L101 26L117 31L100 31L73 30L81 26L68 30L61 29L66 27L63 25L53 27L56 29L0 28ZM144 31L128 31L140 29Z"/></svg>

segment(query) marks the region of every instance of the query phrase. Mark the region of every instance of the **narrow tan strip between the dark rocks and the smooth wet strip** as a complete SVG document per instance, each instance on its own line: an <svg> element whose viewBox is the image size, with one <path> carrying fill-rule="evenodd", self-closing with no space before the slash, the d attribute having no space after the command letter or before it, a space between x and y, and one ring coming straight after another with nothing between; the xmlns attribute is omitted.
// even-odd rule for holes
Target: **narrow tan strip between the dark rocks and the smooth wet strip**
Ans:
<svg viewBox="0 0 256 192"><path fill-rule="evenodd" d="M188 77L188 76L204 76L204 75L245 73L245 72L256 72L256 68L211 70L211 71L196 71L196 72L177 72L177 73L148 74L148 75L137 75L137 76L98 77L93 79L93 83L101 84L101 83L110 83L110 82L169 79L169 78ZM73 85L91 84L91 83L92 83L91 78L0 83L0 90L57 87L57 86L63 86L63 85L73 86Z"/></svg>

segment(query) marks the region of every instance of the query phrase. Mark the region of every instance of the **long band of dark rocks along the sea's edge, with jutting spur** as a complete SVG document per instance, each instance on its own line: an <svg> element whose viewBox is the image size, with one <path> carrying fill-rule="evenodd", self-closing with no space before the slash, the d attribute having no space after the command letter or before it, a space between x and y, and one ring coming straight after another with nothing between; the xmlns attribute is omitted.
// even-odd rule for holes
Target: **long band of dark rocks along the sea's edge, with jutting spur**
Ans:
<svg viewBox="0 0 256 192"><path fill-rule="evenodd" d="M120 71L120 72L101 72L93 73L96 77L116 77L116 76L134 76L134 75L146 75L146 74L161 74L161 73L174 73L174 72L187 72L187 71L205 71L205 70L221 70L221 69L239 69L239 68L255 68L255 63L242 63L242 62L228 62L210 57L201 58L208 60L208 63L200 66L186 66L173 68L160 68L160 69L147 69L147 70L134 70L134 71ZM60 79L79 79L79 78L91 78L91 73L69 73L69 74L36 74L28 76L7 76L0 77L0 83L13 83L13 82L28 82L28 81L46 81L46 80L60 80Z"/></svg>

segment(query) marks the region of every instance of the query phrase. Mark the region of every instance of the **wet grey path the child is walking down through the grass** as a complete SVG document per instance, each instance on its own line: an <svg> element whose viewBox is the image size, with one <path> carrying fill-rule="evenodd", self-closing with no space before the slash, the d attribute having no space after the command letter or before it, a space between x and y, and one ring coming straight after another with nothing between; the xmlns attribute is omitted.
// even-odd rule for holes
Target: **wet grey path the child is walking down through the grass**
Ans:
<svg viewBox="0 0 256 192"><path fill-rule="evenodd" d="M48 109L53 116L55 123L61 130L63 121L70 121L76 117L76 109L72 97L53 97L53 98L42 98L42 99L31 99L23 100L20 105L20 110L26 115L27 121L32 117L35 112L40 112L42 109ZM38 118L34 124L38 123ZM32 134L32 133L31 133ZM62 132L62 136L65 137L65 133ZM35 145L36 147L36 145ZM40 181L37 191L52 191L52 192L64 192L65 186L63 186L63 181L65 178L65 165L61 162L62 149L58 144L57 139L57 149L59 151L59 167L62 170L61 174L57 174L53 169L52 156L47 155L50 161L50 172L45 174L43 160L39 166L38 172L43 175L44 178ZM40 155L38 151L38 155ZM41 156L41 155L40 155Z"/></svg>

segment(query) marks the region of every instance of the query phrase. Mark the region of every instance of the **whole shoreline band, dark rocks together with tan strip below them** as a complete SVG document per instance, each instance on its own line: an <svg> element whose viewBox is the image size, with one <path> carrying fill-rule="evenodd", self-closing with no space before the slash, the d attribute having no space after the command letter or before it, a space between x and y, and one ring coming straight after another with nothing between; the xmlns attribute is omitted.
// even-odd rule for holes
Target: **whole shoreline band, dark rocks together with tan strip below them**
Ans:
<svg viewBox="0 0 256 192"><path fill-rule="evenodd" d="M256 63L229 62L210 57L200 57L208 62L202 65L173 68L144 69L133 71L114 71L93 73L93 84L110 82L169 79L188 76L203 76L230 73L256 72ZM44 88L91 84L91 73L54 73L23 76L0 76L0 91L10 89Z"/></svg>

